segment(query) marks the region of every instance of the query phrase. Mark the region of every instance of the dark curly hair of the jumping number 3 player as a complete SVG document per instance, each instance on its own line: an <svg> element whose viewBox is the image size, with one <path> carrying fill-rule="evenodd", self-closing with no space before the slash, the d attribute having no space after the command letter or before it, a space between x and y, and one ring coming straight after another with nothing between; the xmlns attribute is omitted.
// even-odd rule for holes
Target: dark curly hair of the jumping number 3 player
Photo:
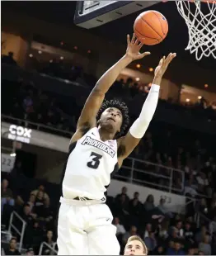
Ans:
<svg viewBox="0 0 216 256"><path fill-rule="evenodd" d="M100 110L97 113L96 120L98 121L101 118L101 114L103 111L105 111L109 107L115 107L118 108L121 111L122 114L122 125L120 126L120 132L116 133L115 139L120 138L120 136L124 135L125 131L127 130L129 126L129 108L126 106L125 102L120 102L119 100L105 100Z"/></svg>

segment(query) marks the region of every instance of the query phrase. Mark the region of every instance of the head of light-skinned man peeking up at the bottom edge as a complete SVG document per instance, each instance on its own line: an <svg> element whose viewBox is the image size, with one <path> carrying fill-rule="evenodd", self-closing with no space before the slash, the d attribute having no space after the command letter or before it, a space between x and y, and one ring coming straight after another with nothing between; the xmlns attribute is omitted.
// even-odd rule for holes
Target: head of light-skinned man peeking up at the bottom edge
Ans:
<svg viewBox="0 0 216 256"><path fill-rule="evenodd" d="M129 237L124 247L124 255L148 255L148 249L138 235Z"/></svg>

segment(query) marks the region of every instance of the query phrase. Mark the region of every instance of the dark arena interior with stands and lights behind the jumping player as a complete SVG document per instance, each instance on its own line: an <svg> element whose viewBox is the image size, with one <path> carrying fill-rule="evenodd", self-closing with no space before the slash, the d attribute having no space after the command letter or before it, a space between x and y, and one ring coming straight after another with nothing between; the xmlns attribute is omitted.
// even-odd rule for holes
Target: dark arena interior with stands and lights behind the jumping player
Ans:
<svg viewBox="0 0 216 256"><path fill-rule="evenodd" d="M110 183L107 205L121 253L130 235L140 235L152 255L216 254L216 59L198 61L185 50L188 27L176 2L1 3L2 254L58 253L69 140L88 94L124 55L145 10L167 18L167 38L143 46L152 54L129 64L107 98L124 100L134 121L158 60L177 57L148 131ZM212 44L215 54L215 36Z"/></svg>

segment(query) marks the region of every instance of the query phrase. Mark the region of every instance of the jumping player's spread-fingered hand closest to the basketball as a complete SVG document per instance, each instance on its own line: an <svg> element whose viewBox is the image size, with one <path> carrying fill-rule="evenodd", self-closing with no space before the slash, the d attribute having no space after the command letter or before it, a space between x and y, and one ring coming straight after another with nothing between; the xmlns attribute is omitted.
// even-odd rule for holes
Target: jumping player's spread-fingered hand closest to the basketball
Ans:
<svg viewBox="0 0 216 256"><path fill-rule="evenodd" d="M136 39L135 34L132 37L132 40L130 40L129 35L127 35L127 42L128 42L128 47L126 50L126 55L132 59L142 59L143 57L150 55L151 53L149 51L144 52L141 54L139 50L141 50L143 44L139 41L139 39Z"/></svg>

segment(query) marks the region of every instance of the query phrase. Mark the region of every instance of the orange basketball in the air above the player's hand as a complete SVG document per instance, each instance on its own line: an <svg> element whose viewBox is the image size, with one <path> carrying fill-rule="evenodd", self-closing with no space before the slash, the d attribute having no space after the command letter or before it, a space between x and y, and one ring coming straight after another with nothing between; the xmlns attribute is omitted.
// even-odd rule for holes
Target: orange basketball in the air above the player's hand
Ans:
<svg viewBox="0 0 216 256"><path fill-rule="evenodd" d="M144 45L157 45L165 39L168 22L157 11L142 12L134 21L134 34Z"/></svg>

